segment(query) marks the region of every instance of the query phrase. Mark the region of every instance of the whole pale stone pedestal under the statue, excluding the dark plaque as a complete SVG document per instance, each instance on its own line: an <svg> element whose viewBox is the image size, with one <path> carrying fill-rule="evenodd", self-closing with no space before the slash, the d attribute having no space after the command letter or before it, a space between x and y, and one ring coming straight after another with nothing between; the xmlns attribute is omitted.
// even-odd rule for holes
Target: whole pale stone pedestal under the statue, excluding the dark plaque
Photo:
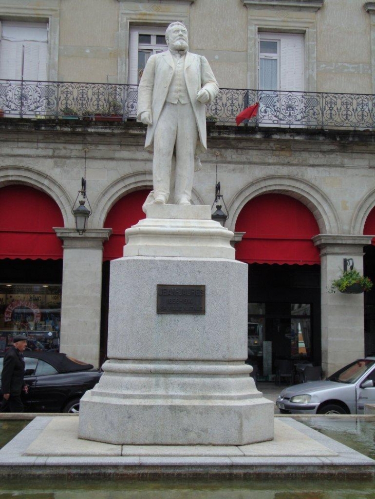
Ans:
<svg viewBox="0 0 375 499"><path fill-rule="evenodd" d="M81 400L81 438L138 445L273 438L273 403L244 363L248 271L234 260L232 235L211 220L210 207L196 206L149 205L145 221L126 231L126 256L111 263L110 360ZM158 285L177 287L172 301L189 301L179 286L203 286L204 313L158 313Z"/></svg>

